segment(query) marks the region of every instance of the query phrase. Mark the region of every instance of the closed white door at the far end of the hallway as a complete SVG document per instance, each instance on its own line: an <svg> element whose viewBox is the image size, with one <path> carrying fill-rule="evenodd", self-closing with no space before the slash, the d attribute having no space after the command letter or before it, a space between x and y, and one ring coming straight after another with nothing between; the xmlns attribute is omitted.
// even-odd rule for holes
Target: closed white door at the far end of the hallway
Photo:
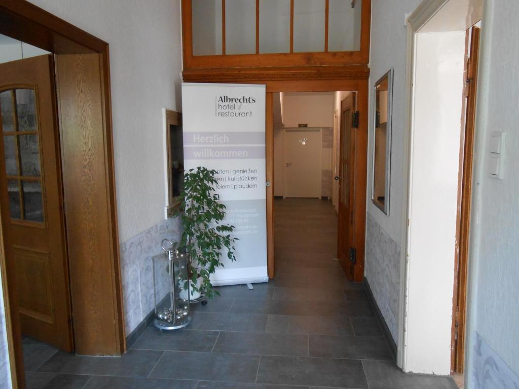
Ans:
<svg viewBox="0 0 519 389"><path fill-rule="evenodd" d="M285 129L283 197L321 197L321 155L320 128Z"/></svg>

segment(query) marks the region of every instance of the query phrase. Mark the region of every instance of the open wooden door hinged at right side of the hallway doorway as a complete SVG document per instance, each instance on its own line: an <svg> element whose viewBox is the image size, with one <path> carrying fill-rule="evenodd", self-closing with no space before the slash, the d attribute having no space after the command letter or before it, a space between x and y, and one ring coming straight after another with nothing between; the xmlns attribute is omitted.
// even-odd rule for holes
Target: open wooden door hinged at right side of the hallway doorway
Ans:
<svg viewBox="0 0 519 389"><path fill-rule="evenodd" d="M355 93L340 102L339 135L339 212L337 255L346 275L353 279L354 253L354 184L355 184L355 131L352 116L355 113Z"/></svg>

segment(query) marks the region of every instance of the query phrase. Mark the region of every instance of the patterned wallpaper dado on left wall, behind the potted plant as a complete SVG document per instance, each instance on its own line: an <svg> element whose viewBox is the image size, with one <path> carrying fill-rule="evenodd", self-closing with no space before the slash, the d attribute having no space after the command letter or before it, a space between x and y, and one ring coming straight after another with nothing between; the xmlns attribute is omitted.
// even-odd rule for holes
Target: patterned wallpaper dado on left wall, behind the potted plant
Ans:
<svg viewBox="0 0 519 389"><path fill-rule="evenodd" d="M170 218L120 245L127 336L154 309L152 257L162 252L162 239L177 241L180 232L180 219Z"/></svg>

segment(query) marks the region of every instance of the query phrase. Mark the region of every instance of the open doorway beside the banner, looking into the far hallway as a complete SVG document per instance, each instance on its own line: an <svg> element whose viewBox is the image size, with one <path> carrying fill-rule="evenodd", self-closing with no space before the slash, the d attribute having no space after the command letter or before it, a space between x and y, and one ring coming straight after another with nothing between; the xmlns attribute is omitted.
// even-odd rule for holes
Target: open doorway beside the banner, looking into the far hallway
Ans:
<svg viewBox="0 0 519 389"><path fill-rule="evenodd" d="M315 268L353 281L355 95L274 93L276 285L320 287Z"/></svg>

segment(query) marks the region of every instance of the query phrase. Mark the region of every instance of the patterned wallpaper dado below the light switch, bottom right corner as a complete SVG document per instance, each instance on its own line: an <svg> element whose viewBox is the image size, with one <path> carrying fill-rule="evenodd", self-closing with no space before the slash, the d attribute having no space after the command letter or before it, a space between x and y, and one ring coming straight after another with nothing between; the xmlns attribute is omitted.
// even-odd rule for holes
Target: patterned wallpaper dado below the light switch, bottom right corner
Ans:
<svg viewBox="0 0 519 389"><path fill-rule="evenodd" d="M490 348L476 331L473 332L472 380L477 389L519 389L519 377Z"/></svg>

